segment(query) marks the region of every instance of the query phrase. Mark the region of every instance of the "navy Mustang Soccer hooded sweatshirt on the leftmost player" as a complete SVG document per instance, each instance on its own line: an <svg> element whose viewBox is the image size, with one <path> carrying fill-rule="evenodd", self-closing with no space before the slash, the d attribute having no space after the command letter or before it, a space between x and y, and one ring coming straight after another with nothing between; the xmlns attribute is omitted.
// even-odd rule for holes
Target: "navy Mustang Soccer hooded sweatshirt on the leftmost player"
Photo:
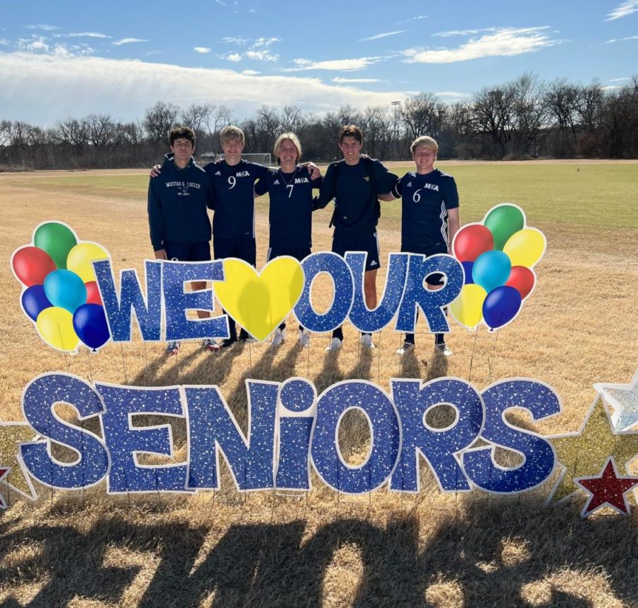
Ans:
<svg viewBox="0 0 638 608"><path fill-rule="evenodd" d="M204 170L191 157L184 169L167 154L162 172L148 183L148 225L154 251L167 242L211 240L206 208L213 208L213 189Z"/></svg>

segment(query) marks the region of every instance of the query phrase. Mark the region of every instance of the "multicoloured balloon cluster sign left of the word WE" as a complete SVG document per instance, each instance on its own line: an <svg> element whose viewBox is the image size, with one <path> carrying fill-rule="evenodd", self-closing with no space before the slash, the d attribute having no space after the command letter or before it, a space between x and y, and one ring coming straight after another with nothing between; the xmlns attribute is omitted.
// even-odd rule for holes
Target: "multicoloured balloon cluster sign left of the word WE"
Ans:
<svg viewBox="0 0 638 608"><path fill-rule="evenodd" d="M23 286L22 310L40 337L54 349L77 351L79 341L96 350L108 342L106 315L92 261L108 258L101 245L82 241L66 224L35 228L33 244L11 256Z"/></svg>

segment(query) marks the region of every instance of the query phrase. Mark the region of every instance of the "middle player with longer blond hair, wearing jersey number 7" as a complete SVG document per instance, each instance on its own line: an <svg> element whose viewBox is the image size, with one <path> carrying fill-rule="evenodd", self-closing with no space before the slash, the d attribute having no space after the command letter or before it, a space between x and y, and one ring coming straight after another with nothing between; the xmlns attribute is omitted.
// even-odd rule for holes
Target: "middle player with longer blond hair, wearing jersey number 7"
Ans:
<svg viewBox="0 0 638 608"><path fill-rule="evenodd" d="M312 179L308 167L297 164L301 142L294 133L279 135L274 155L279 169L271 169L254 188L257 196L268 192L270 198L268 261L282 255L302 261L310 255L312 247L313 188L319 188L321 177ZM285 337L286 322L283 322L275 330L272 346L279 347ZM310 334L301 326L299 342L303 347L310 345Z"/></svg>

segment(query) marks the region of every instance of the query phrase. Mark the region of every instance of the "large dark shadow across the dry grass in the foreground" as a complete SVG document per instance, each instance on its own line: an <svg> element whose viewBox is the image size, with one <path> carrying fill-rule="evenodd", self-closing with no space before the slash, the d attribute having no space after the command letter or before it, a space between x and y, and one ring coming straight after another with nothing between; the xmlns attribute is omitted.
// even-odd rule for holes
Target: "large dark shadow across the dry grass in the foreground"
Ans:
<svg viewBox="0 0 638 608"><path fill-rule="evenodd" d="M373 499L374 500L374 499ZM578 519L576 507L549 508L537 499L520 504L470 500L463 517L430 530L425 510L397 512L385 527L364 519L334 519L306 530L303 519L271 524L189 526L182 522L131 523L122 515L104 517L88 531L42 524L8 532L0 523L0 554L38 547L0 564L0 587L45 584L28 604L6 599L3 608L65 607L75 597L122 605L142 563L157 564L143 582L138 607L198 606L214 593L217 608L308 607L323 605L323 583L335 551L356 546L362 562L357 607L428 607L426 591L440 580L460 585L466 606L529 606L528 583L569 568L604 573L610 592L624 605L638 597L632 566L638 546L635 517ZM425 527L427 534L420 533ZM205 541L213 546L202 551ZM421 541L420 541L421 539ZM423 540L425 545L423 545ZM503 544L526 547L522 560L508 560ZM136 565L106 559L108 552L133 552ZM106 561L105 561L106 560ZM485 568L484 564L490 564ZM10 564L10 565L9 565ZM108 565L105 565L108 564ZM139 583L138 583L139 584ZM587 592L570 595L553 585L535 606L586 607ZM440 604L443 605L443 604Z"/></svg>

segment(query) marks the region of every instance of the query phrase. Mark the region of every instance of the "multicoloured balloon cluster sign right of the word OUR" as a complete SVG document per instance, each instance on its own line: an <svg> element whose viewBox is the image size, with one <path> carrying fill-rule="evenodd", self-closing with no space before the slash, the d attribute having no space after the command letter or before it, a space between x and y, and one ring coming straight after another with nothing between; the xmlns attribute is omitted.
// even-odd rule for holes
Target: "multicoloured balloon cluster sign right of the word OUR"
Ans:
<svg viewBox="0 0 638 608"><path fill-rule="evenodd" d="M462 227L452 244L465 271L450 305L454 319L469 328L481 321L491 330L507 325L535 286L532 267L546 246L545 235L525 225L523 210L508 203L491 208L482 223Z"/></svg>

